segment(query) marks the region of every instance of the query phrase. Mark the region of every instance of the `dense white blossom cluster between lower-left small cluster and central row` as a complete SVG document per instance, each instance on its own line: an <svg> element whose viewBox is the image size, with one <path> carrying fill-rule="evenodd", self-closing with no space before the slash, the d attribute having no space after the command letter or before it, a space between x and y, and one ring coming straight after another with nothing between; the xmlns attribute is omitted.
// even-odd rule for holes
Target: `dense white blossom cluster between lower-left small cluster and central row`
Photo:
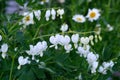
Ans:
<svg viewBox="0 0 120 80"><path fill-rule="evenodd" d="M27 50L26 53L28 55L32 55L32 60L35 60L36 55L40 55L40 57L43 56L43 51L47 49L47 42L42 41L38 42L35 46L30 45L30 50Z"/></svg>

